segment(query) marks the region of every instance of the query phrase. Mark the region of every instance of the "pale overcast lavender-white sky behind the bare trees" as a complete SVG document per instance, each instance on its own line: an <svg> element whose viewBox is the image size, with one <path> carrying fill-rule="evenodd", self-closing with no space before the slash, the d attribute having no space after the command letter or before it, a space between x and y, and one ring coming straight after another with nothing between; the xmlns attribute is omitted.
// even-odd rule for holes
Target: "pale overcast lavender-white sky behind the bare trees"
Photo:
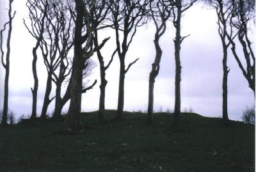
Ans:
<svg viewBox="0 0 256 172"><path fill-rule="evenodd" d="M22 23L22 18L28 20L26 0L15 0L13 9L17 11L13 20L13 32L10 54L10 84L9 84L9 109L20 114L30 114L32 106L33 75L31 69L32 48L35 40L29 35ZM6 10L8 1L0 1L0 27L3 28L7 20ZM222 48L218 35L215 10L197 3L185 13L182 18L182 35L190 34L181 47L181 107L192 107L195 113L203 116L222 116ZM151 64L154 61L154 24L140 27L125 58L128 65L136 58L140 58L125 75L125 111L146 111L148 102L148 76ZM154 88L154 110L160 108L174 109L174 38L175 30L172 23L167 24L166 33L161 38L163 56L159 75ZM102 48L105 61L110 59L115 50L115 35L111 30L100 32L100 38L111 36L111 39ZM254 37L253 37L254 38ZM254 42L255 40L253 40ZM253 45L254 47L254 45ZM40 52L38 51L38 54ZM239 52L241 54L241 51ZM93 60L98 63L97 57ZM116 109L118 100L119 60L115 56L113 63L106 72L108 85L106 87L106 109ZM246 106L254 104L253 91L248 87L232 52L228 52L228 116L232 120L241 120L241 115ZM37 63L39 88L37 112L41 113L44 99L46 69L42 58ZM3 108L4 70L1 66L0 108ZM95 111L99 107L99 65L93 70L90 80L98 82L93 90L83 95L82 111ZM52 88L54 95L55 88ZM53 111L54 102L49 107ZM63 111L67 111L66 105Z"/></svg>

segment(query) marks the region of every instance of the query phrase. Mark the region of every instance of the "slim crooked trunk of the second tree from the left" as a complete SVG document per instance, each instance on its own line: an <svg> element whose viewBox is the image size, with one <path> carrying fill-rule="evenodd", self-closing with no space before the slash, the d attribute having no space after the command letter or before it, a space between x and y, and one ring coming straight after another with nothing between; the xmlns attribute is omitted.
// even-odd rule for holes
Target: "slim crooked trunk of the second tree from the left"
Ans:
<svg viewBox="0 0 256 172"><path fill-rule="evenodd" d="M33 77L34 77L34 88L31 88L32 91L32 113L31 113L31 120L36 119L36 103L37 103L37 91L38 91L38 77L37 77L37 72L36 72L36 61L37 61L37 55L36 55L36 50L38 49L39 46L39 41L36 44L36 47L33 48L33 61L32 61L32 72L33 72Z"/></svg>

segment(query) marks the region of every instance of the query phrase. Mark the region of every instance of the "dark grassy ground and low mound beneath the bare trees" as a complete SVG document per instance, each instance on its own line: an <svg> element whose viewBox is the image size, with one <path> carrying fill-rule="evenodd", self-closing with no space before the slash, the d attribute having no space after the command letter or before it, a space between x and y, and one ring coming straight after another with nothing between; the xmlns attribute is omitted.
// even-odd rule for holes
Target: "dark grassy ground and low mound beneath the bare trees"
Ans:
<svg viewBox="0 0 256 172"><path fill-rule="evenodd" d="M0 129L0 171L255 171L255 127L220 118L182 114L172 132L173 114L125 112L107 124L97 113L83 113L87 126L67 132L65 121Z"/></svg>

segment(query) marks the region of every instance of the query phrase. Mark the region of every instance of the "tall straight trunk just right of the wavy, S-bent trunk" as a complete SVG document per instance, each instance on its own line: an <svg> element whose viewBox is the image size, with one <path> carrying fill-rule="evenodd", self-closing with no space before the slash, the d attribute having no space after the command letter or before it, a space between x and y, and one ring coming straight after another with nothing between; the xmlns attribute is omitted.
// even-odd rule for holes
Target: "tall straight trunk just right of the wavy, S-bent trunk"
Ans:
<svg viewBox="0 0 256 172"><path fill-rule="evenodd" d="M176 37L174 40L175 46L175 106L174 106L174 118L173 118L173 129L179 130L180 128L180 81L181 81L181 65L180 65L180 19L181 10L177 9L177 22L175 22Z"/></svg>

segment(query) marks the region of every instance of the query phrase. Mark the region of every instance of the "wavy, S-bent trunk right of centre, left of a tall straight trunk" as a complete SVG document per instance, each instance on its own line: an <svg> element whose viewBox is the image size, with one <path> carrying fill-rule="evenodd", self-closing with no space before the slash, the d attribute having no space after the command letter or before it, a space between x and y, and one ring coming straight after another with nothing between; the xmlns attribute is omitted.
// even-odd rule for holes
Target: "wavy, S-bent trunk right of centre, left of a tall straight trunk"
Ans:
<svg viewBox="0 0 256 172"><path fill-rule="evenodd" d="M160 61L162 56L162 50L159 45L159 36L157 36L157 34L155 35L154 44L156 48L156 57L154 63L152 63L152 70L149 74L148 79L148 122L152 122L152 113L154 107L154 83L159 73Z"/></svg>

